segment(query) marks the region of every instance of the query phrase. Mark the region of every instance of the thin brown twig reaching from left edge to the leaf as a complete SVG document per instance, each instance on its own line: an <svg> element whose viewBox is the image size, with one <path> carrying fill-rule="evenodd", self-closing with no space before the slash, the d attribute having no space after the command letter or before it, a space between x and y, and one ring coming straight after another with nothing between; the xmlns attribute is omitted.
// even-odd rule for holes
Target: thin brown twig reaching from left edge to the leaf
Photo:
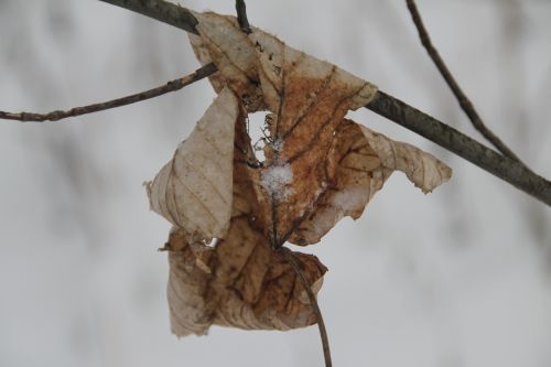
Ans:
<svg viewBox="0 0 551 367"><path fill-rule="evenodd" d="M169 82L163 86L149 89L145 91L137 93L131 96L127 97L121 97L117 98L114 100L105 101L105 102L99 102L99 104L94 104L89 106L83 106L83 107L75 107L69 110L63 111L63 110L56 110L52 111L48 114L34 114L34 112L19 112L19 114L13 114L13 112L4 112L0 111L0 119L6 119L6 120L17 120L17 121L22 121L22 122L43 122L43 121L57 121L67 117L75 117L75 116L80 116L80 115L86 115L86 114L93 114L93 112L98 112L102 111L106 109L110 108L116 108L116 107L121 107L130 104L134 104L141 100L159 97L161 95L171 93L171 91L176 91L182 89L185 86L188 86L190 84L193 84L195 82L198 82L213 73L216 72L216 66L214 64L208 64L205 65L198 69L196 69L194 73L188 74L184 77L177 78L175 80Z"/></svg>

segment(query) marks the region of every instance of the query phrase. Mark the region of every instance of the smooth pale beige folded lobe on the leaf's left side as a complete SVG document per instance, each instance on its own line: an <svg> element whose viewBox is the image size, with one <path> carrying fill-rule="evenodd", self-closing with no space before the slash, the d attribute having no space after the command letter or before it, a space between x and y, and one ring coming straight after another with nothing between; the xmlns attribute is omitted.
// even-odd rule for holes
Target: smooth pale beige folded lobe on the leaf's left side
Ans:
<svg viewBox="0 0 551 367"><path fill-rule="evenodd" d="M151 208L182 227L194 241L224 237L233 201L234 131L239 102L225 88L153 182Z"/></svg>

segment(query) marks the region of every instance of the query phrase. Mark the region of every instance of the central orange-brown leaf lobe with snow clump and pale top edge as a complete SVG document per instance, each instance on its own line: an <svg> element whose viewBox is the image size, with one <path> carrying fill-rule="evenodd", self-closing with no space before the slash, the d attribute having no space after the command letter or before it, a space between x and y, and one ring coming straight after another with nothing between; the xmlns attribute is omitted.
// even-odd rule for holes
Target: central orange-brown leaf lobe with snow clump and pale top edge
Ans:
<svg viewBox="0 0 551 367"><path fill-rule="evenodd" d="M261 50L260 80L274 114L260 197L267 197L274 244L283 244L327 186L326 154L349 109L367 105L376 88L367 82L285 46L263 32L251 35Z"/></svg>

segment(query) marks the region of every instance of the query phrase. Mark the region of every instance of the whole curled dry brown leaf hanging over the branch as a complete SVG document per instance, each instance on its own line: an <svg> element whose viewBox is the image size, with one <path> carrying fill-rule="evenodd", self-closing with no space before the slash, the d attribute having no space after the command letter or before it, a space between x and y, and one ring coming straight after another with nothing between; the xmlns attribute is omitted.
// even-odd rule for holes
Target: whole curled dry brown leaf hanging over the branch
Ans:
<svg viewBox="0 0 551 367"><path fill-rule="evenodd" d="M372 84L261 30L246 34L235 18L195 17L199 35L191 42L201 63L217 66L210 82L219 95L148 186L152 208L174 225L166 246L172 330L310 325L312 306L278 249L315 244L344 216L358 218L395 170L426 193L451 169L344 118L371 100ZM271 112L262 165L245 121L257 110ZM317 293L325 267L296 256Z"/></svg>

